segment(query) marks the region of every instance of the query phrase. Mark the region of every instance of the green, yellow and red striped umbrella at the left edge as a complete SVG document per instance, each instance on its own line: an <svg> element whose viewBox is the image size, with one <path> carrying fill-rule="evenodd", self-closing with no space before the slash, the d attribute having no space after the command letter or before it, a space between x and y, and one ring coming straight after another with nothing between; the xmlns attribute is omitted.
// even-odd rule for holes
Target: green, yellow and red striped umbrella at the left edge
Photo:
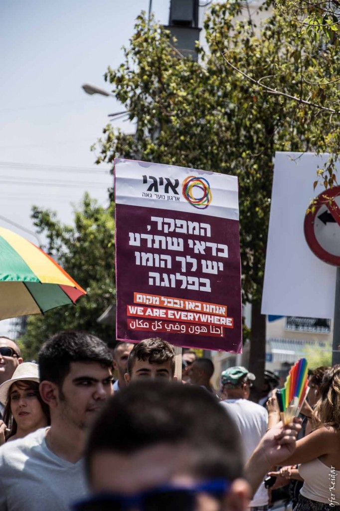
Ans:
<svg viewBox="0 0 340 511"><path fill-rule="evenodd" d="M0 227L0 319L43 314L84 294L49 255Z"/></svg>

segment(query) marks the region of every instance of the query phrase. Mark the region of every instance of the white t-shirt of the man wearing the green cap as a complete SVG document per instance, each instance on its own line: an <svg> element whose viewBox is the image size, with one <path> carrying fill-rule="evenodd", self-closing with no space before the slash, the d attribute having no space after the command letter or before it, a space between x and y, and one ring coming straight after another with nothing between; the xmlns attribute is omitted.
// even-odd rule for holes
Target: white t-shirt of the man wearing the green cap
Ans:
<svg viewBox="0 0 340 511"><path fill-rule="evenodd" d="M221 401L221 405L226 408L239 429L244 461L247 461L268 428L268 412L263 406L248 399L227 399ZM268 501L268 490L262 482L250 506L264 506Z"/></svg>

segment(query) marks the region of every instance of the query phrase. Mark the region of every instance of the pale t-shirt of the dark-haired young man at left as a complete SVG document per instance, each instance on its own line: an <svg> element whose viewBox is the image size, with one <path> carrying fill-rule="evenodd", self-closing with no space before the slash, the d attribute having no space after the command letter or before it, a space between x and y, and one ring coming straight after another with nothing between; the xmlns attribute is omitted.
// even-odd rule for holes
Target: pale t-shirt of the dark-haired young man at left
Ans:
<svg viewBox="0 0 340 511"><path fill-rule="evenodd" d="M0 447L0 511L69 511L86 495L83 460L56 456L46 428Z"/></svg>

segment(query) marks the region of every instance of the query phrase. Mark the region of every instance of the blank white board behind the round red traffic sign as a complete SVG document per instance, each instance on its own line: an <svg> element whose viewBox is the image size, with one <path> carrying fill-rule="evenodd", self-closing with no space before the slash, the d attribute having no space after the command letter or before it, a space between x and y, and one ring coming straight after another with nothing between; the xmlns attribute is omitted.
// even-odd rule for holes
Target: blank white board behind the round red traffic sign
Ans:
<svg viewBox="0 0 340 511"><path fill-rule="evenodd" d="M262 314L333 318L336 268L313 254L303 230L311 199L324 191L313 182L327 157L275 155Z"/></svg>

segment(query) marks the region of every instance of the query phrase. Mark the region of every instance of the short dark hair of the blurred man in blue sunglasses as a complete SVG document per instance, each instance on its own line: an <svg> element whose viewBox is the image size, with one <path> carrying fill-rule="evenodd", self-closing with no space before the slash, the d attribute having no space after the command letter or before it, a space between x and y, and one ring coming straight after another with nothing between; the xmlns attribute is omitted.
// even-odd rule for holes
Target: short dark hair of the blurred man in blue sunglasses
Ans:
<svg viewBox="0 0 340 511"><path fill-rule="evenodd" d="M238 430L209 392L181 383L138 382L116 392L96 418L85 451L87 477L97 452L129 455L160 443L192 448L198 477L241 476Z"/></svg>

